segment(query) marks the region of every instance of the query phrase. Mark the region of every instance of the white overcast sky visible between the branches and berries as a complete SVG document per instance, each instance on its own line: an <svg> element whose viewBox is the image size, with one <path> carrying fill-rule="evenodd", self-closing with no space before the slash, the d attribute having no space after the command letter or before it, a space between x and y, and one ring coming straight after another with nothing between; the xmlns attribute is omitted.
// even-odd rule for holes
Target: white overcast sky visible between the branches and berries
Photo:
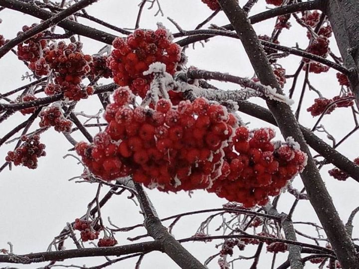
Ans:
<svg viewBox="0 0 359 269"><path fill-rule="evenodd" d="M89 14L103 19L111 24L119 27L134 27L139 0L99 0L95 4L87 8ZM170 28L173 32L177 32L173 24L166 18L167 16L173 18L179 23L183 29L193 29L199 22L206 18L211 10L207 8L200 0L160 0L165 16L154 16L157 7L151 10L144 9L141 27L156 28L156 22L161 21ZM244 0L240 0L243 5ZM273 6L271 6L273 7ZM259 0L259 3L253 8L251 14L263 11L265 8L265 1ZM24 24L30 25L33 22L39 22L28 15L21 14L17 11L3 10L0 12L2 23L0 24L0 34L5 38L13 38L16 32L21 29ZM101 25L91 23L88 20L79 18L81 23L92 25L98 29L106 30L116 34L115 32L102 27ZM305 36L305 30L301 26L297 26L292 18L291 23L293 27L290 31L283 30L283 34L279 40L282 45L295 46L298 42L299 46L305 48L308 44L308 39ZM212 21L217 25L227 24L227 19L221 12ZM258 34L270 35L274 25L274 20L258 23L255 25L255 30ZM82 38L84 42L83 51L88 54L96 53L104 44L97 41ZM332 50L338 55L337 48L335 47L335 40L332 39ZM229 72L233 75L242 77L252 77L253 70L249 64L247 56L239 40L230 38L216 37L212 38L209 42L205 43L204 48L201 44L196 43L195 49L192 47L186 50L188 56L188 66L194 65L201 69L210 71ZM297 56L288 57L280 60L279 63L283 64L287 69L287 74L292 74L298 67L300 58ZM0 59L0 93L5 93L9 90L15 89L19 86L27 84L28 81L21 81L21 75L26 72L26 67L16 59L12 53L8 53ZM330 70L328 73L315 75L311 74L310 79L312 84L321 90L325 97L332 98L339 94L340 86L335 77L336 71ZM110 81L104 81L109 83ZM303 76L298 80L298 87L294 95L294 99L298 100L300 89L303 83ZM234 85L216 83L213 84L223 89L236 89ZM285 90L288 93L291 83L286 84ZM13 96L14 98L16 95ZM309 113L305 111L307 107L312 105L313 99L317 96L313 92L307 92L304 100L303 109L301 113L301 123L311 128L317 119L313 119ZM264 105L262 100L252 99L251 101ZM297 102L293 105L293 110L296 110ZM98 99L93 96L87 100L82 100L76 107L76 111L84 111L86 114L96 114L101 108ZM262 123L244 114L240 114L244 122L251 122L250 128L267 127L269 124ZM6 120L1 125L0 137L6 134L9 130L15 127L18 123L24 121L26 117L20 113L16 113ZM80 118L83 120L83 118ZM347 119L347 120L343 120ZM336 138L341 139L351 129L354 128L353 120L351 117L350 109L337 109L331 116L325 116L322 122L327 130ZM37 128L37 122L34 125ZM34 130L34 127L31 129ZM95 134L98 129L92 129L92 134ZM318 134L320 137L326 138L323 134ZM343 145L339 147L340 152L344 153L350 159L358 156L358 134L352 135ZM282 137L277 132L277 138ZM75 139L84 139L81 134L76 133ZM327 142L330 143L328 139ZM14 246L15 254L26 254L30 252L43 252L46 251L48 244L52 241L54 236L57 236L66 222L72 222L75 218L82 216L86 212L87 204L93 199L97 184L75 183L69 182L68 179L78 176L82 173L82 167L76 164L74 158L63 159L62 156L67 154L67 150L71 145L67 142L62 134L58 134L53 129L41 135L41 142L46 144L46 157L39 159L38 168L36 170L29 170L25 167L13 167L12 171L5 169L0 173L0 249L7 249L6 242L10 241ZM5 157L8 150L13 150L14 142L3 145L0 148L0 158ZM2 163L1 163L2 164ZM357 201L357 182L353 179L348 179L346 182L339 182L329 177L327 170L332 166L328 165L323 168L322 175L326 182L330 194L340 216L347 221L350 212L358 206ZM297 188L302 188L300 177L297 177L293 185ZM108 190L104 187L103 190ZM106 191L102 192L103 194ZM167 217L173 214L182 213L191 210L218 208L226 203L224 199L219 199L214 194L208 194L204 191L195 191L191 198L188 194L180 192L178 194L165 194L157 190L148 190L148 194L155 205L160 217ZM284 194L279 202L279 211L288 212L294 198L290 194ZM102 210L102 216L106 220L110 216L112 221L120 226L125 227L142 223L143 218L138 213L139 207L126 199L125 195L114 197ZM192 236L201 221L208 215L196 215L193 217L185 217L176 225L174 235L177 239ZM318 222L317 217L308 201L301 201L295 214L294 221L312 221ZM220 224L220 220L212 225L211 235L220 234L214 232L214 229ZM359 233L356 227L359 222L356 219L354 222L355 228L353 237L358 237ZM315 235L312 229L299 227L304 232ZM134 233L122 234L117 233L116 238L120 245L130 244L126 241L128 236L140 235L144 229L135 230ZM149 240L149 238L147 239ZM308 242L303 238L299 238L302 242ZM74 248L75 246L67 241L67 249ZM216 253L217 249L214 248L215 243L185 243L184 246L197 257L201 262L204 262L210 255ZM91 247L91 245L85 244ZM250 250L250 251L249 251ZM251 256L255 248L247 247L245 251L235 255ZM235 258L235 255L233 258ZM285 260L284 256L279 256L276 266ZM136 259L136 258L135 258ZM109 268L133 268L136 260L131 259L121 264L116 264ZM258 268L269 268L272 259L272 254L265 255L265 250L262 253L261 263ZM215 259L209 268L218 268ZM104 263L104 258L94 259L76 259L63 262L65 265L83 265L93 266ZM241 260L236 263L235 268L248 268L252 261ZM45 264L43 264L45 265ZM17 268L34 269L41 264L32 265L19 265L14 266ZM1 264L0 267L5 267L6 264ZM142 262L142 269L155 269L155 268L178 268L165 254L151 253L145 256ZM306 268L317 268L307 263Z"/></svg>

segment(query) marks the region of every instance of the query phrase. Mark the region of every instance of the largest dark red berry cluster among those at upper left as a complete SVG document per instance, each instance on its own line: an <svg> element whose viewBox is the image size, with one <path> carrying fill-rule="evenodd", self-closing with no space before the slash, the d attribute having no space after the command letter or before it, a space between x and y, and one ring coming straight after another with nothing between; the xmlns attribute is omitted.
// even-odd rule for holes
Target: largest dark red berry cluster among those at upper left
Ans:
<svg viewBox="0 0 359 269"><path fill-rule="evenodd" d="M65 98L78 101L93 93L92 87L81 85L82 78L91 71L92 62L91 55L83 54L81 48L81 42L66 45L61 41L43 50L44 61L55 72L55 84L45 88L47 95L63 92Z"/></svg>

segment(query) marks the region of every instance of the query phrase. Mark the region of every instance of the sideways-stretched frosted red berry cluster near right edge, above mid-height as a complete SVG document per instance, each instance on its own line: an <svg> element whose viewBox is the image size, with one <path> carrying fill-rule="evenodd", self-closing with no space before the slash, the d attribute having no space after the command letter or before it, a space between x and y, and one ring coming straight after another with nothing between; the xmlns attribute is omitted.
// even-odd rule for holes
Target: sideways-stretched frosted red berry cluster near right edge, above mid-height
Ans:
<svg viewBox="0 0 359 269"><path fill-rule="evenodd" d="M335 103L334 103L335 102ZM333 99L317 98L314 104L307 109L313 117L325 114L331 114L336 108L348 108L354 105L354 96L348 93L342 96L335 96Z"/></svg>

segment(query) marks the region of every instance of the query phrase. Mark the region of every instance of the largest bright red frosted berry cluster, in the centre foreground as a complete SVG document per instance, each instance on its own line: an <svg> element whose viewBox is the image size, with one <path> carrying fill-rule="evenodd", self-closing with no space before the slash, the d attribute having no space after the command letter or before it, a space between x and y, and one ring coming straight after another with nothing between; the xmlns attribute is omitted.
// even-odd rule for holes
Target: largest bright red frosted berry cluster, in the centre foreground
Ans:
<svg viewBox="0 0 359 269"><path fill-rule="evenodd" d="M204 189L219 176L223 151L233 127L233 115L205 99L160 100L156 109L128 106L128 88L115 91L107 107L109 123L94 144L80 143L77 152L90 171L104 180L126 176L162 191Z"/></svg>

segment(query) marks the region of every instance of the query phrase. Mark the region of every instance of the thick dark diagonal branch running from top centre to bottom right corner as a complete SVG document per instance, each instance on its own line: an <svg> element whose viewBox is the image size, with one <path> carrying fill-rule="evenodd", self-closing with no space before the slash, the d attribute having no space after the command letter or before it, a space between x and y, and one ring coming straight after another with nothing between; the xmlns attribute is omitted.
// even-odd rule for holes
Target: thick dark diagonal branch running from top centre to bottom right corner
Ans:
<svg viewBox="0 0 359 269"><path fill-rule="evenodd" d="M233 25L238 37L240 37L261 83L275 87L278 93L282 93L257 34L248 22L246 13L238 6L235 0L218 0L218 2ZM301 177L310 202L323 225L341 265L344 268L356 268L359 264L359 259L354 244L334 207L292 111L284 103L267 101L267 105L281 133L285 137L292 136L300 144L301 149L307 153L308 163L301 173Z"/></svg>

